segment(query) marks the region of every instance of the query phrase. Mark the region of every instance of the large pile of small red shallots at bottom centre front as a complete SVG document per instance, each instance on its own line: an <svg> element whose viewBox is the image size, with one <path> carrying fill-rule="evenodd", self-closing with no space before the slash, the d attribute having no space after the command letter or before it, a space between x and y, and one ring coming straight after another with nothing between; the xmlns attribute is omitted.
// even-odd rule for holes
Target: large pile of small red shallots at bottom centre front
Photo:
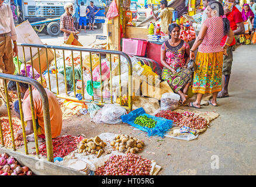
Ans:
<svg viewBox="0 0 256 187"><path fill-rule="evenodd" d="M151 161L136 154L113 155L95 175L150 175Z"/></svg>

